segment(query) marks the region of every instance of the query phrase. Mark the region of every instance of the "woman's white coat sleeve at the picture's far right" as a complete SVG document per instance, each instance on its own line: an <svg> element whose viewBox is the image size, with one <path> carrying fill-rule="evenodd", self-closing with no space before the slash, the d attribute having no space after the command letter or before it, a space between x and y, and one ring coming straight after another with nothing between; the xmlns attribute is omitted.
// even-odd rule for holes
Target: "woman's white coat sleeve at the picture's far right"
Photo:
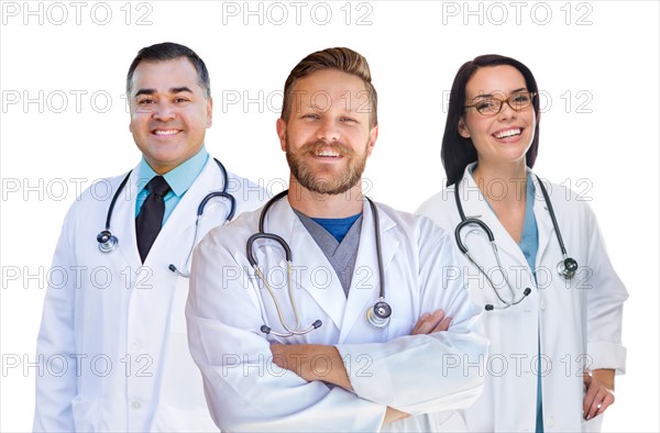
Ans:
<svg viewBox="0 0 660 433"><path fill-rule="evenodd" d="M590 369L626 371L626 347L622 344L624 301L628 292L612 266L596 218L585 203L584 226L588 238L585 279L587 285L587 352Z"/></svg>

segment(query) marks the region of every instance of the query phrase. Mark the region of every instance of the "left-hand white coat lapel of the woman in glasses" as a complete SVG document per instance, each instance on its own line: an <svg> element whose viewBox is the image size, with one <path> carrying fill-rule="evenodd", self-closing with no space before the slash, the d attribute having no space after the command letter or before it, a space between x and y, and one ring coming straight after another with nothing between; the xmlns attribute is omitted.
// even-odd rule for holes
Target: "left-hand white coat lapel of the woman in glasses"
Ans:
<svg viewBox="0 0 660 433"><path fill-rule="evenodd" d="M506 254L510 256L514 260L518 262L520 265L526 265L527 260L525 259L525 255L522 254L520 246L508 234L506 229L504 229L504 225L502 225L502 223L497 219L497 215L495 215L495 212L493 212L493 210L488 206L488 201L482 195L481 190L479 189L479 186L474 181L474 178L470 174L469 168L465 168L460 189L461 204L463 206L465 218L477 218L485 222L493 232L493 236L495 237L495 243L497 244L497 251L499 252L499 254ZM465 232L468 230L468 227L464 229ZM486 240L485 242L487 242L485 233L480 233L480 235L483 235L484 240ZM488 248L490 258L485 260L484 265L488 264L490 266L490 264L493 264L493 266L496 266L495 257L492 257L492 251L491 248ZM486 266L485 268L487 269L488 266Z"/></svg>

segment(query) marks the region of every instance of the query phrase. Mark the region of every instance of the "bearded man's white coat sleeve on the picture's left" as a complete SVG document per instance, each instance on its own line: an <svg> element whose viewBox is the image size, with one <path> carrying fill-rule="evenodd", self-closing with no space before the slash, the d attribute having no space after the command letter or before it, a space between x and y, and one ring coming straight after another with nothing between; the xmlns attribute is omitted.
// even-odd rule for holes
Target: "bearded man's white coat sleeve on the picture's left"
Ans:
<svg viewBox="0 0 660 433"><path fill-rule="evenodd" d="M196 248L186 306L190 353L222 431L378 431L386 408L340 387L307 382L272 362L254 281L212 238Z"/></svg>

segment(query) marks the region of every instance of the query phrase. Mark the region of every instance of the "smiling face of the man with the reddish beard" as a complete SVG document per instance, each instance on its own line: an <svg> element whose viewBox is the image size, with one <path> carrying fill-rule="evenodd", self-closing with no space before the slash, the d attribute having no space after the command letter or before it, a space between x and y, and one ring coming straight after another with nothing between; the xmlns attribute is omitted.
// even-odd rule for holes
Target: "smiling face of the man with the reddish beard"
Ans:
<svg viewBox="0 0 660 433"><path fill-rule="evenodd" d="M288 119L277 120L292 182L327 195L355 187L376 142L370 127L369 96L362 80L324 69L296 84Z"/></svg>

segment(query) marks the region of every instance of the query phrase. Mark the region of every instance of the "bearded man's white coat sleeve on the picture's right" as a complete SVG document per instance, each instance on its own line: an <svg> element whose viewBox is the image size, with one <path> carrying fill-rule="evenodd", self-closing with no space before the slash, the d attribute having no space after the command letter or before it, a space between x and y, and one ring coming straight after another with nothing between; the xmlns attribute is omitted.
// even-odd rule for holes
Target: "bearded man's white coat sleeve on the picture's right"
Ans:
<svg viewBox="0 0 660 433"><path fill-rule="evenodd" d="M429 224L418 233L424 311L452 318L446 332L408 335L380 344L339 345L344 363L369 354L371 375L351 375L355 392L371 401L418 415L470 406L481 393L488 342L480 308L470 301L447 233ZM359 366L346 365L348 371Z"/></svg>

